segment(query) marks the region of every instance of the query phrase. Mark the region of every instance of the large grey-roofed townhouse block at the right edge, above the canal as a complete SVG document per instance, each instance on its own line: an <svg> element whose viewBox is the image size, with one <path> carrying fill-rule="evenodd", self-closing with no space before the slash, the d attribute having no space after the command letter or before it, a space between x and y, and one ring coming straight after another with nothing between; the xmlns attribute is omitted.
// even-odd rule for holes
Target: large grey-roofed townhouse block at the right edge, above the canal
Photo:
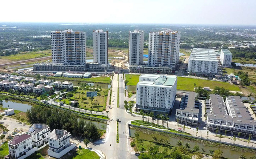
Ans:
<svg viewBox="0 0 256 159"><path fill-rule="evenodd" d="M245 137L250 134L256 137L256 121L250 116L239 96L228 96L225 105L221 97L217 97L217 100L211 97L210 100L213 110L212 113L207 113L208 130L226 130L232 135L240 132Z"/></svg>

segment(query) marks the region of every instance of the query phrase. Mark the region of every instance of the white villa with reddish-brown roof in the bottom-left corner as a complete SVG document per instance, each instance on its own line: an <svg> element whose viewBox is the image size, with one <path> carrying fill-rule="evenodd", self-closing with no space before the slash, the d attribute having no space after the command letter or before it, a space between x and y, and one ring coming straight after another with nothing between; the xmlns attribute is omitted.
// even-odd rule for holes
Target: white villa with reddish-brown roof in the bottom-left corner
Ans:
<svg viewBox="0 0 256 159"><path fill-rule="evenodd" d="M5 156L6 159L24 159L33 154L37 147L33 148L32 135L22 134L16 135L8 142L9 155Z"/></svg>

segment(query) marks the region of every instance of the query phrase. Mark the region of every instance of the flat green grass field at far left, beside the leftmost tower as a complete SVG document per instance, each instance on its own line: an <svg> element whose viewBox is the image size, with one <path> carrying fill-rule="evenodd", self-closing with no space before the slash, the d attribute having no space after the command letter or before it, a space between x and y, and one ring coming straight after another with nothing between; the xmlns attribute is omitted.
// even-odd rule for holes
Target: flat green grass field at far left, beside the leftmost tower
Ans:
<svg viewBox="0 0 256 159"><path fill-rule="evenodd" d="M19 52L18 54L15 54L15 55L1 56L0 59L19 61L19 60L28 60L32 58L42 58L45 56L52 56L51 50Z"/></svg>

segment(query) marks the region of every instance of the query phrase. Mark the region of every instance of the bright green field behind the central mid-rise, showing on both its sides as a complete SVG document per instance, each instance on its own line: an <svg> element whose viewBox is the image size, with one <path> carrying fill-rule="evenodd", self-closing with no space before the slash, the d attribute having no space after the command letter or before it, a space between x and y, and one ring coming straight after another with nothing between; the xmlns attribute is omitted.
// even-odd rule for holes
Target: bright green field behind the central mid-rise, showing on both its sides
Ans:
<svg viewBox="0 0 256 159"><path fill-rule="evenodd" d="M137 85L139 82L139 75L132 75L132 74L126 74L126 85ZM210 81L210 80L204 80L204 79L195 79L195 78L184 78L184 77L177 77L177 89L179 90L194 90L194 83L196 83L196 86L201 87L210 87L210 89L214 89L216 86L218 87L224 87L225 89L233 90L233 91L240 91L239 87L237 85L231 85L227 82L221 82L221 81Z"/></svg>

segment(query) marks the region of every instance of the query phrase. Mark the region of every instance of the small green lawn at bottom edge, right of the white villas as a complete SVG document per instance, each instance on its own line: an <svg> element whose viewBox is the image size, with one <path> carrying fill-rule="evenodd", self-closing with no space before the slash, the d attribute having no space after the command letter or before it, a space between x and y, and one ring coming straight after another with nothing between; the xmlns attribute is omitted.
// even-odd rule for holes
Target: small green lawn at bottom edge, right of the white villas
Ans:
<svg viewBox="0 0 256 159"><path fill-rule="evenodd" d="M69 159L100 159L100 156L91 150L81 148Z"/></svg>

